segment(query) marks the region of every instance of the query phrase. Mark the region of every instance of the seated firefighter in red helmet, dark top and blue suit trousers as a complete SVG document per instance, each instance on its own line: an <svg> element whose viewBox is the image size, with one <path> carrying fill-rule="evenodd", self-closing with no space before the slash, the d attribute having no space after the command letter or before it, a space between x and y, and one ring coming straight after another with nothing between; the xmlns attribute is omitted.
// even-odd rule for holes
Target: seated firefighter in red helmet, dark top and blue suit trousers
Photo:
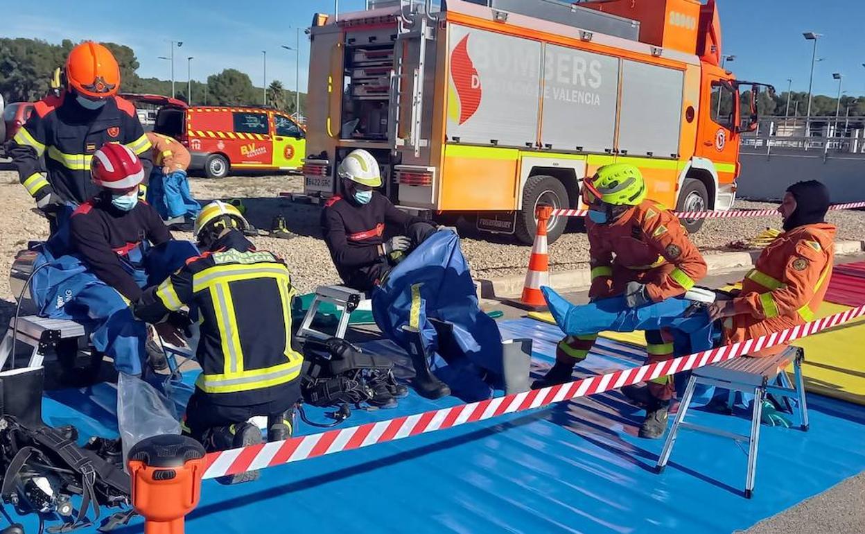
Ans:
<svg viewBox="0 0 865 534"><path fill-rule="evenodd" d="M173 241L156 210L139 202L144 167L128 147L104 145L93 154L91 173L99 193L40 247L30 291L38 315L84 325L97 351L137 376L147 325L132 317L129 304L197 251Z"/></svg>

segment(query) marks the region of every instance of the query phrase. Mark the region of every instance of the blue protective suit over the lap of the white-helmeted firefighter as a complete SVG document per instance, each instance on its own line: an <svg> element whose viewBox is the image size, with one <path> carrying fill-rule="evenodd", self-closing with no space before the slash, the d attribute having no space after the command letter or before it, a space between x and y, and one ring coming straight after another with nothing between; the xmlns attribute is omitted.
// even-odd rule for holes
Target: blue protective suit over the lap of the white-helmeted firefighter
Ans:
<svg viewBox="0 0 865 534"><path fill-rule="evenodd" d="M406 351L402 326L420 330L430 369L454 396L474 402L502 386L502 337L477 304L458 235L442 231L426 239L375 288L372 301L375 324ZM430 318L452 323L453 344L439 343Z"/></svg>

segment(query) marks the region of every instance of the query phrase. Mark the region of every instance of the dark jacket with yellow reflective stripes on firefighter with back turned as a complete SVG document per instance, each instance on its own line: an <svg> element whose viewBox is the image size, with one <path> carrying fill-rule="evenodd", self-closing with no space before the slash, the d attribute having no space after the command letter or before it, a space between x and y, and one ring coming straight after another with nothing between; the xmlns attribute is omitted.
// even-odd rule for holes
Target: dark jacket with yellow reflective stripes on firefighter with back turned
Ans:
<svg viewBox="0 0 865 534"><path fill-rule="evenodd" d="M288 267L238 231L213 250L145 291L136 317L158 323L183 306L197 310L202 374L195 385L216 404L251 406L292 394L303 357L292 349Z"/></svg>

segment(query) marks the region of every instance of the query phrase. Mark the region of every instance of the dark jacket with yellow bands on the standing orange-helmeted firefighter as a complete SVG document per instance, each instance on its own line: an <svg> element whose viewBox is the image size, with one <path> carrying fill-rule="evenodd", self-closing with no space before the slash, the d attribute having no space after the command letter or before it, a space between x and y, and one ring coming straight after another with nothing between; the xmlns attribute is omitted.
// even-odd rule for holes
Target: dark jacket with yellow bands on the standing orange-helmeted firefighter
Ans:
<svg viewBox="0 0 865 534"><path fill-rule="evenodd" d="M66 93L69 95L70 93ZM64 202L84 203L99 188L90 180L93 153L106 143L122 143L141 158L144 180L151 172L151 142L144 135L130 102L112 97L88 110L70 95L49 96L35 103L27 123L8 150L24 188L36 200L49 193ZM40 158L45 158L43 172Z"/></svg>

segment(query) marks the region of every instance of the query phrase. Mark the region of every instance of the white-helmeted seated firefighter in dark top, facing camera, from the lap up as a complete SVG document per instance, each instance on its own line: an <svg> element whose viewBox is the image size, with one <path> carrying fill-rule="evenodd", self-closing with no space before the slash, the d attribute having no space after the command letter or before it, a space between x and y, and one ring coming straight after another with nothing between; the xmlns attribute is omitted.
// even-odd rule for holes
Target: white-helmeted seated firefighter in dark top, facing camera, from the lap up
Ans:
<svg viewBox="0 0 865 534"><path fill-rule="evenodd" d="M410 216L376 191L381 187L381 172L368 151L351 151L337 173L345 196L333 196L324 204L322 228L330 257L346 286L364 292L373 289L402 254L437 229L453 229ZM386 224L399 228L400 235L385 240Z"/></svg>

